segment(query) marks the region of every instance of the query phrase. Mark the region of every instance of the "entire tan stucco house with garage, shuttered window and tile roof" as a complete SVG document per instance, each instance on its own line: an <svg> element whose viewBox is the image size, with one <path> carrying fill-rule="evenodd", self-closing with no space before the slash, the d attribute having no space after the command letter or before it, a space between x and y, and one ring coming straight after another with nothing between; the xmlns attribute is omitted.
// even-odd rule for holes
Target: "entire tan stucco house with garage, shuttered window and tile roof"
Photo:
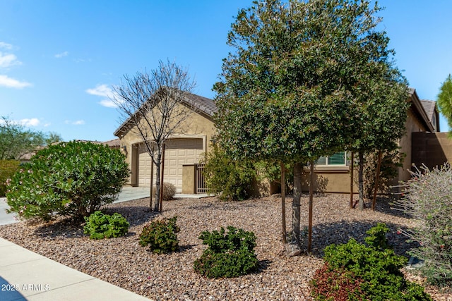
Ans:
<svg viewBox="0 0 452 301"><path fill-rule="evenodd" d="M400 140L401 152L406 154L403 168L399 168L399 180L408 180L408 170L412 165L412 133L439 131L439 113L436 103L431 101L420 101L414 89L410 89L408 98L411 106L408 110L408 118L405 123L406 134ZM195 112L191 116L191 127L186 129L184 135L172 137L167 142L165 151L165 182L173 183L178 192L196 193L196 164L198 164L206 152L208 152L215 125L213 114L217 111L212 99L189 94L186 105L194 107ZM141 136L134 134L133 128L127 123L121 125L114 135L119 137L121 150L126 154L126 160L131 166L132 186L150 186L151 160L149 154L143 147ZM339 152L333 156L323 156L319 159L314 169L316 179L315 190L323 192L350 192L350 166L346 152ZM303 177L303 189L309 189L309 177ZM153 182L155 183L155 168ZM265 191L261 189L261 192ZM267 193L275 192L274 187L270 190L268 184ZM354 191L357 192L355 186Z"/></svg>

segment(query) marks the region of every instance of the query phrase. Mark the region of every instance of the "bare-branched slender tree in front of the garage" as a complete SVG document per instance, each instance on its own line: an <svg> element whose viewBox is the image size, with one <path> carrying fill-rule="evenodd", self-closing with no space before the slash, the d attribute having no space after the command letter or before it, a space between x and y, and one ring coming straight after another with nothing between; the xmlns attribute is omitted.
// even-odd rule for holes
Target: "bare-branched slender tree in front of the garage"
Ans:
<svg viewBox="0 0 452 301"><path fill-rule="evenodd" d="M159 211L163 145L189 127L194 107L186 96L194 87L188 71L169 61L159 61L159 66L150 73L124 75L121 84L113 87L112 101L118 106L121 121L141 137L156 166L154 211Z"/></svg>

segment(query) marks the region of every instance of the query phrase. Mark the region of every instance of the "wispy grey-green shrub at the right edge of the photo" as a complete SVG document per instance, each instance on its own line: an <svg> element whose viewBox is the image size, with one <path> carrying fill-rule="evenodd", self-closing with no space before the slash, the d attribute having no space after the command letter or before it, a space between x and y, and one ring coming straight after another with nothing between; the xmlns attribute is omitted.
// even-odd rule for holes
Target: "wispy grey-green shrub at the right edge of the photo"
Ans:
<svg viewBox="0 0 452 301"><path fill-rule="evenodd" d="M396 205L420 221L414 231L404 232L420 244L410 254L424 261L420 271L429 283L452 285L451 165L417 169L404 193Z"/></svg>

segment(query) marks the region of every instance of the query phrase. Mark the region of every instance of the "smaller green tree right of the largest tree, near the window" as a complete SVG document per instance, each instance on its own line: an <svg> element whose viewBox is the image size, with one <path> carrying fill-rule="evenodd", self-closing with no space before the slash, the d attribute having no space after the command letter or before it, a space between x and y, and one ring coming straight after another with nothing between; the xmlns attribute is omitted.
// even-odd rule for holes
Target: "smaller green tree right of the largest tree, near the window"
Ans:
<svg viewBox="0 0 452 301"><path fill-rule="evenodd" d="M408 82L394 65L391 59L394 51L388 49L388 42L388 37L382 33L377 52L362 64L357 63L357 72L362 76L350 89L359 114L352 143L347 148L358 153L359 209L364 209L365 157L376 151L398 150L410 105L406 101Z"/></svg>

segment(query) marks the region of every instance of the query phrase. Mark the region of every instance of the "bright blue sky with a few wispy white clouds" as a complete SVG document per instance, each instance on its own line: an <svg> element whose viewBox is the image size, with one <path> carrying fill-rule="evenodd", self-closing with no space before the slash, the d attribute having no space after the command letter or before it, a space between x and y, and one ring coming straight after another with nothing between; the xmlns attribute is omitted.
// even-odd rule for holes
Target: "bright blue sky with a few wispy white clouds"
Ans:
<svg viewBox="0 0 452 301"><path fill-rule="evenodd" d="M158 61L189 68L214 97L227 32L245 0L0 0L0 116L64 140L114 139L110 87ZM398 68L421 99L452 73L452 1L379 1ZM447 123L441 118L441 130Z"/></svg>

